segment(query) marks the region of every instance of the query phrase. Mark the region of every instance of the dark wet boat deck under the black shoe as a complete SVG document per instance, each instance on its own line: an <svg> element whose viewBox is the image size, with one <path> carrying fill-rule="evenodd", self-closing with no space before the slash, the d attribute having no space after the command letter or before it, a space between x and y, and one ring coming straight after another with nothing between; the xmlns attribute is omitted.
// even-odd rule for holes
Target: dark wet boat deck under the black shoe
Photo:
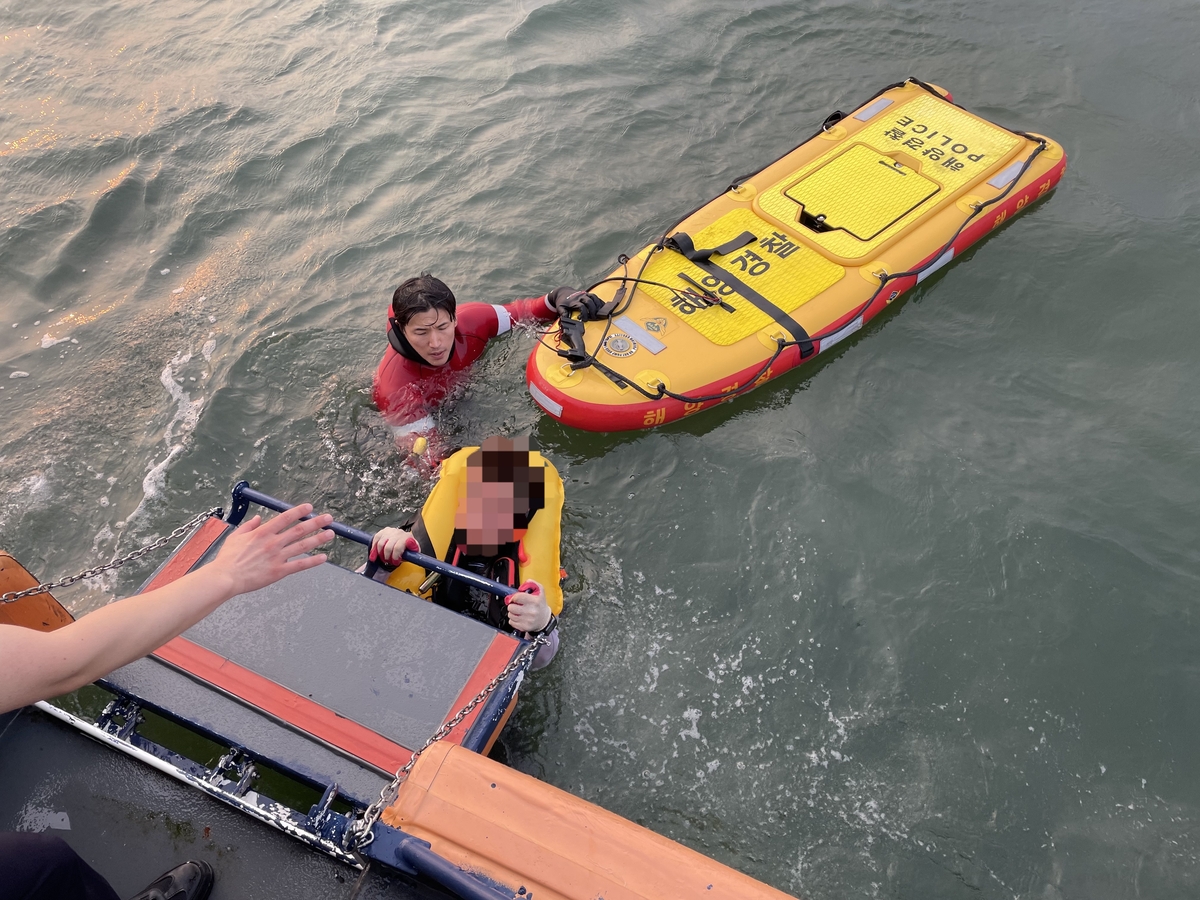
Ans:
<svg viewBox="0 0 1200 900"><path fill-rule="evenodd" d="M343 900L358 872L36 709L0 714L0 830L46 830L132 896L185 859L212 900ZM360 900L446 895L372 866Z"/></svg>

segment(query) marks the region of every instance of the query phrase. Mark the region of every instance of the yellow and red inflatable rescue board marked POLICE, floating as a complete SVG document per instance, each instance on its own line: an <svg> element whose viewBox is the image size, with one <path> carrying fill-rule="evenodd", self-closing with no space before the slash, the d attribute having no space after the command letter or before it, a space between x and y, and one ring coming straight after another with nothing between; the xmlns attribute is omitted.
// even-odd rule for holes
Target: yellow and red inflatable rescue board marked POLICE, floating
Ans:
<svg viewBox="0 0 1200 900"><path fill-rule="evenodd" d="M691 415L829 349L1031 202L1062 148L905 82L744 179L594 288L612 314L540 343L529 392L589 431Z"/></svg>

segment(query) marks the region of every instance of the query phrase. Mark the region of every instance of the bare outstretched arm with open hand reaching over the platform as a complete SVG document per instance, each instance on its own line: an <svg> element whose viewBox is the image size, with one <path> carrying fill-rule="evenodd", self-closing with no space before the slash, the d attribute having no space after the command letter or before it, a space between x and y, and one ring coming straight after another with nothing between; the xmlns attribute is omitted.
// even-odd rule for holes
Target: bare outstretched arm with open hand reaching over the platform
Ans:
<svg viewBox="0 0 1200 900"><path fill-rule="evenodd" d="M55 697L101 678L203 619L238 594L325 562L307 556L328 544L334 517L301 504L269 522L259 516L230 534L216 559L145 594L109 604L56 631L0 625L0 712Z"/></svg>

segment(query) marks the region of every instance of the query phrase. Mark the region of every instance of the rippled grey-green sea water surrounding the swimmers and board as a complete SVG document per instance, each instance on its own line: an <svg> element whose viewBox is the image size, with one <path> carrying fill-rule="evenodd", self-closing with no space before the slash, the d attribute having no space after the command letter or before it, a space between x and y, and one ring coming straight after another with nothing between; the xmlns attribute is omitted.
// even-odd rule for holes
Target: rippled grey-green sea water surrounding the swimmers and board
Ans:
<svg viewBox="0 0 1200 900"><path fill-rule="evenodd" d="M510 764L787 893L1200 892L1194 4L0 6L0 545L66 575L240 479L362 528L428 481L385 306L606 275L916 76L1061 186L818 362L658 431L440 416L566 482ZM356 550L338 551L355 563ZM66 594L77 613L154 562Z"/></svg>

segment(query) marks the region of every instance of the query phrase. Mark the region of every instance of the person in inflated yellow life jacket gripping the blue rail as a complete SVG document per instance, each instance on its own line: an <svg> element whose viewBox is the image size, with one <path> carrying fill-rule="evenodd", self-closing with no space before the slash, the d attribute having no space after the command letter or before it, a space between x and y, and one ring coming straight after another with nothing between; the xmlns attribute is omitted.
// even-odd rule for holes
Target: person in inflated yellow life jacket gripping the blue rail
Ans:
<svg viewBox="0 0 1200 900"><path fill-rule="evenodd" d="M487 438L442 463L420 515L406 528L384 528L371 544L373 562L396 566L392 587L425 595L446 608L527 638L546 635L532 668L558 652L559 538L563 481L529 438ZM402 554L414 550L512 587L499 598L452 578L432 587ZM379 576L377 576L379 577Z"/></svg>

